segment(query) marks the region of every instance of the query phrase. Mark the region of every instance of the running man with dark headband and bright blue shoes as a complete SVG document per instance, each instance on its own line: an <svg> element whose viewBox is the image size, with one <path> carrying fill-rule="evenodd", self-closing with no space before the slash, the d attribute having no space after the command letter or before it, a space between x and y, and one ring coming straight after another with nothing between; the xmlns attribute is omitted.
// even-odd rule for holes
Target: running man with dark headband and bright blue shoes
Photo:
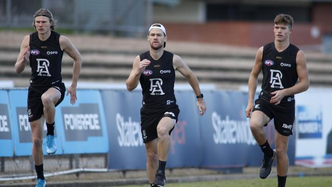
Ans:
<svg viewBox="0 0 332 187"><path fill-rule="evenodd" d="M20 74L30 61L31 78L28 91L28 116L32 131L32 156L37 173L36 187L45 186L43 172L43 124L46 121L46 153L57 151L54 135L55 107L59 105L66 91L61 77L61 61L63 52L73 58L73 82L67 90L70 103L76 102L76 86L81 71L82 58L73 43L65 36L54 32L56 21L51 11L39 9L33 20L36 32L24 37L15 72Z"/></svg>

